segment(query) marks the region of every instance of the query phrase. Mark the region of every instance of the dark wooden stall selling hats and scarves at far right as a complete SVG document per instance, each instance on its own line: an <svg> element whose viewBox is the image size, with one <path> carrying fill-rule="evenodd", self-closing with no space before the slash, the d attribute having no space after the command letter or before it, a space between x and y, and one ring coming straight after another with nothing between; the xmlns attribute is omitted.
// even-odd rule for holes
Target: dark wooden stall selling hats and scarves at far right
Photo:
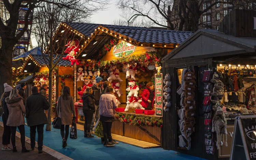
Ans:
<svg viewBox="0 0 256 160"><path fill-rule="evenodd" d="M244 15L250 21L246 22L244 17L238 15ZM243 108L243 104L247 107L256 107L255 104L248 102L250 101L248 97L240 96L243 99L238 99L240 94L248 96L246 88L253 90L254 87L251 86L255 84L256 30L253 28L252 22L255 20L253 15L256 15L256 11L234 10L224 18L219 31L199 29L162 59L162 72L164 75L169 73L172 80L171 109L169 112L163 113L163 149L175 150L204 159L229 159L234 118L239 115L255 114L250 109L249 111L247 110L248 113L246 114L244 110L240 110L241 106ZM230 24L232 27L228 27ZM194 115L195 125L192 127L194 132L190 135L190 143L186 142L183 145L182 142L185 140L180 139L180 137L183 136L182 132L186 128L180 127L181 123L179 122L183 119L179 113L182 113L182 106L187 102L184 100L181 103L181 96L178 93L179 86L182 84L180 77L183 71L185 73L185 70L192 71L192 75L193 72L195 73L196 89L194 100L196 112ZM210 72L212 74L209 75L213 75L217 71L219 75L222 75L222 78L220 76L216 80L218 79L217 82L221 81L223 83L222 90L224 94L218 94L220 97L217 100L223 102L223 105L226 106L226 110L223 108L225 119L227 120L227 139L224 141L219 134L209 131L209 129L212 129L212 118L215 113L213 106L211 106L214 101L210 101L209 106L211 107L209 107L209 110L208 105L205 105L205 97L208 96L207 85L205 84L214 82L207 81L205 77ZM228 83L225 78L228 78ZM239 80L237 87L235 86L237 83L236 78L241 80ZM211 91L211 89L213 88L209 90ZM219 136L219 139L217 139L217 136ZM226 135L223 134L222 136ZM221 141L223 145L221 145ZM226 141L227 146L225 146ZM219 149L216 143L219 145Z"/></svg>

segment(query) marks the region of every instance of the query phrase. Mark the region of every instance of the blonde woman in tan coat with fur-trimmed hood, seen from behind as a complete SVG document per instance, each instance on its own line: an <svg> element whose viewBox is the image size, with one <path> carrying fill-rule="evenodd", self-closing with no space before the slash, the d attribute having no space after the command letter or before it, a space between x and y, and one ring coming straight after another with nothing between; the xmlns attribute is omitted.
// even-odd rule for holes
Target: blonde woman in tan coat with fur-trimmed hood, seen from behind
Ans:
<svg viewBox="0 0 256 160"><path fill-rule="evenodd" d="M16 129L18 127L20 133L20 141L22 143L22 152L29 152L25 147L25 120L23 114L25 113L25 106L23 103L23 98L20 97L17 89L12 89L10 96L5 98L7 107L9 110L9 117L7 119L6 125L11 128L11 142L13 146L13 152L16 152L15 145L15 135Z"/></svg>

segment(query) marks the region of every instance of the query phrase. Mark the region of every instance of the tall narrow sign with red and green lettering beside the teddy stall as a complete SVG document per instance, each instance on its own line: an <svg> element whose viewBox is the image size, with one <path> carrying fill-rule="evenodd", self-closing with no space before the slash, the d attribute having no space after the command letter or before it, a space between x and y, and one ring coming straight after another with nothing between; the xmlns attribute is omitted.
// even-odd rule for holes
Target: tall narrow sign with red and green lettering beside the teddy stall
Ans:
<svg viewBox="0 0 256 160"><path fill-rule="evenodd" d="M162 117L162 73L155 74L155 104L156 116Z"/></svg>

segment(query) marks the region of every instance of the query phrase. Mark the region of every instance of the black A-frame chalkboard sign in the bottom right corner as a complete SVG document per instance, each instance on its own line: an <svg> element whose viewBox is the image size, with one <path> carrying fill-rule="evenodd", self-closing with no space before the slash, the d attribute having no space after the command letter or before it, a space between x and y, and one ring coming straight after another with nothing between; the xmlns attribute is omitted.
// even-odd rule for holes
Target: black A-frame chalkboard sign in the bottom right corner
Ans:
<svg viewBox="0 0 256 160"><path fill-rule="evenodd" d="M230 160L256 160L256 115L236 118Z"/></svg>

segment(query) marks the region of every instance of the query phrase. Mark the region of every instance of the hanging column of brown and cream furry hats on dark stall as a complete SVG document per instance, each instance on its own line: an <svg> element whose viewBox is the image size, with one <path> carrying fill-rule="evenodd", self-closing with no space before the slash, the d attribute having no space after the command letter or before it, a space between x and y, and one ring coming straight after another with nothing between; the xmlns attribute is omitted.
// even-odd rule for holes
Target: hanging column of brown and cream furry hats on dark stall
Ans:
<svg viewBox="0 0 256 160"><path fill-rule="evenodd" d="M194 132L196 104L195 90L196 81L195 74L187 69L182 71L181 86L177 89L177 93L181 95L181 109L179 110L179 126L181 135L179 136L180 147L190 149L190 135Z"/></svg>

